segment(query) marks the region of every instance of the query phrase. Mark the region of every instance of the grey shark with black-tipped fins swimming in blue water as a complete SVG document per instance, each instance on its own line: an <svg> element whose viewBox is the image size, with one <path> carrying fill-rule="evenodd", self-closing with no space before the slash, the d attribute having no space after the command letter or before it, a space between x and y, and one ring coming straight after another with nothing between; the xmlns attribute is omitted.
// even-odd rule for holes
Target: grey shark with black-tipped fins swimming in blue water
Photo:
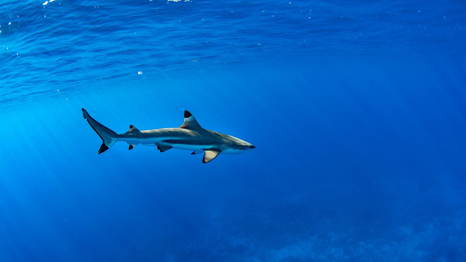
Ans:
<svg viewBox="0 0 466 262"><path fill-rule="evenodd" d="M204 152L202 163L208 163L219 154L235 155L255 148L254 145L239 138L202 128L187 110L185 110L185 123L178 128L138 130L130 125L130 130L124 134L117 134L103 126L92 118L84 108L82 115L97 135L102 138L103 143L97 154L105 152L117 141L124 141L130 145L129 150L141 144L157 146L160 152L165 152L171 148L190 150L193 151L192 155Z"/></svg>

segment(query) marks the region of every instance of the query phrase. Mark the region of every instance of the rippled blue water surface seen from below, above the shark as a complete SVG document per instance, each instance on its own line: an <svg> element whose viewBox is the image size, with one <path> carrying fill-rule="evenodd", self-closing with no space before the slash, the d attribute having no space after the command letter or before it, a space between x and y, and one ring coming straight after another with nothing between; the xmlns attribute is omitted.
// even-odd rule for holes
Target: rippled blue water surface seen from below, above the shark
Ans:
<svg viewBox="0 0 466 262"><path fill-rule="evenodd" d="M464 5L404 1L125 1L4 3L0 103L106 80L162 78L249 62L454 51ZM140 75L140 74L139 74ZM141 76L142 77L142 76ZM102 82L104 81L104 82Z"/></svg>

